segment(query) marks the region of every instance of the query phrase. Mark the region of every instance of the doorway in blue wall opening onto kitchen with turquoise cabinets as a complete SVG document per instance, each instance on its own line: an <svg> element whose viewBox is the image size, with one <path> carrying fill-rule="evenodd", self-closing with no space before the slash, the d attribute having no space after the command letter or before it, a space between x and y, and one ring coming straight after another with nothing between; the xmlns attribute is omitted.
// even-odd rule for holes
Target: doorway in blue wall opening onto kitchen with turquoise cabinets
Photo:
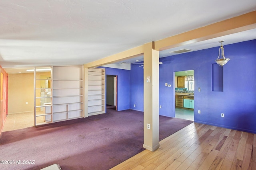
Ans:
<svg viewBox="0 0 256 170"><path fill-rule="evenodd" d="M175 72L175 117L194 121L194 70Z"/></svg>

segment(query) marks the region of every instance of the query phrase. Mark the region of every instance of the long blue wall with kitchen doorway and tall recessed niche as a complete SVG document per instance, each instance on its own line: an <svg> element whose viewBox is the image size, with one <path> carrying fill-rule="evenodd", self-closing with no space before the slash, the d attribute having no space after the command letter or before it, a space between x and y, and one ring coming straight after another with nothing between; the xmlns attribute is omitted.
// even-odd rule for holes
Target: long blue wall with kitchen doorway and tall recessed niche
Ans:
<svg viewBox="0 0 256 170"><path fill-rule="evenodd" d="M223 66L223 92L212 91L212 64L218 49L160 58L159 114L175 116L174 72L194 70L194 121L256 133L256 40L224 45L225 57L230 61ZM130 70L130 108L143 111L143 68L135 64Z"/></svg>

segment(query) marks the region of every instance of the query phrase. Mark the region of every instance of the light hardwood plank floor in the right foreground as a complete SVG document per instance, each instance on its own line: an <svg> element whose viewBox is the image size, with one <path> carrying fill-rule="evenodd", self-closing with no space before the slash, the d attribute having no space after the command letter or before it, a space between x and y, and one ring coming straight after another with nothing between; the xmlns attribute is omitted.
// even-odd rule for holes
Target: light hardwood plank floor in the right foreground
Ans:
<svg viewBox="0 0 256 170"><path fill-rule="evenodd" d="M256 134L192 123L111 170L256 170Z"/></svg>

